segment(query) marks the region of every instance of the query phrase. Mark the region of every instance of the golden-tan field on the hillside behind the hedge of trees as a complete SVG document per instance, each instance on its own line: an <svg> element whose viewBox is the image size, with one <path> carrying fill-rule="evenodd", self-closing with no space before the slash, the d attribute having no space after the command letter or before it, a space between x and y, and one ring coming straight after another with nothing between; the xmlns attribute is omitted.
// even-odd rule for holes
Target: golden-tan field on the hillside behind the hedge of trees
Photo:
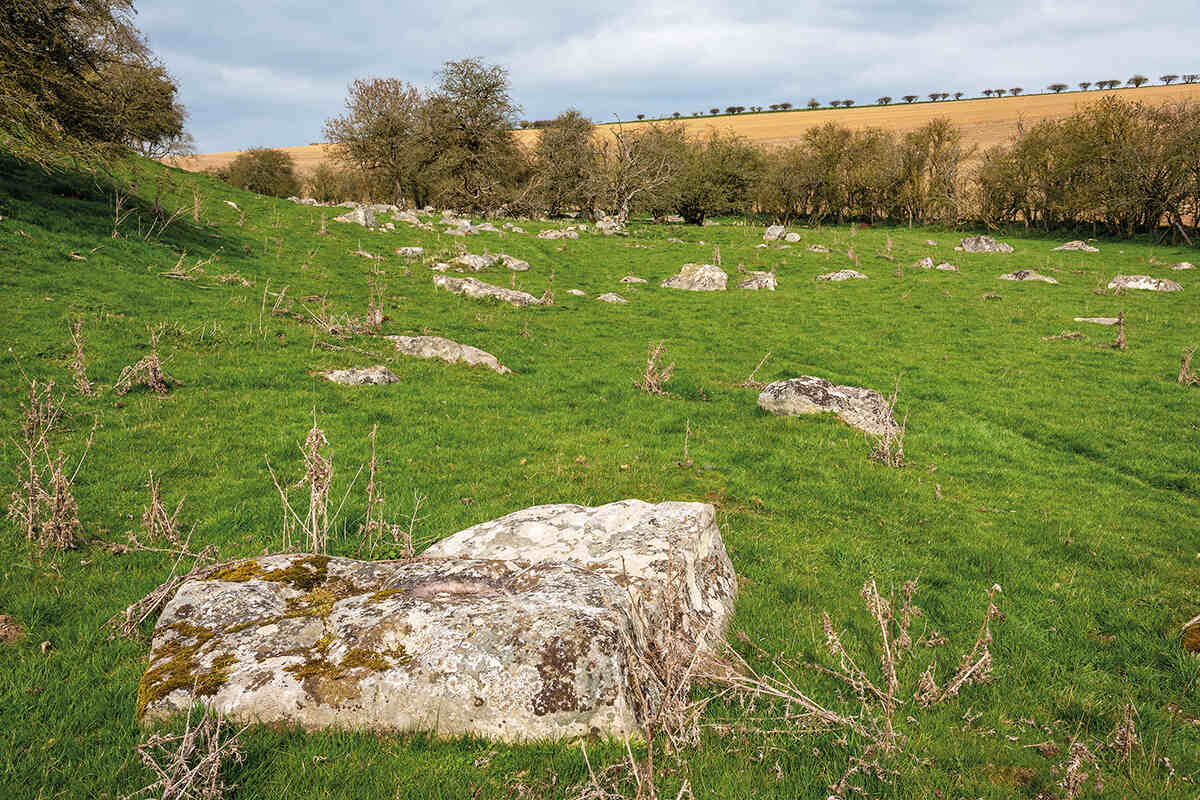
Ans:
<svg viewBox="0 0 1200 800"><path fill-rule="evenodd" d="M718 116L685 116L684 127L694 136L708 136L710 131L745 137L754 144L776 148L804 138L811 127L834 122L859 130L877 127L887 131L916 131L932 119L946 118L962 128L967 148L985 150L1009 142L1021 125L1026 127L1040 120L1057 120L1069 116L1078 108L1094 103L1105 95L1117 95L1124 100L1147 104L1177 103L1200 100L1200 84L1175 84L1171 86L1142 86L1141 89L1114 89L1105 91L1067 91L1061 95L1020 95L1016 97L976 98L905 103L896 98L890 106L864 106L862 108L796 109L791 112L763 112ZM630 130L648 122L625 122ZM599 125L604 136L611 125ZM536 142L536 131L517 131L517 139L526 145ZM301 173L311 172L317 164L330 158L329 145L310 144L281 146L295 161ZM182 158L179 167L204 170L224 167L240 151L208 152Z"/></svg>

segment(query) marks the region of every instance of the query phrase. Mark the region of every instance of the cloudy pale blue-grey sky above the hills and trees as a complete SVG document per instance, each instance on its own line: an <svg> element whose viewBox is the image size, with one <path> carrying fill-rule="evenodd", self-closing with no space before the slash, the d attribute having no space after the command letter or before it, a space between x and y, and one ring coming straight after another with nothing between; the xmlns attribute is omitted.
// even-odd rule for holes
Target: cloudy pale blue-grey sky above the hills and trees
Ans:
<svg viewBox="0 0 1200 800"><path fill-rule="evenodd" d="M595 121L1200 72L1198 0L174 0L137 24L180 83L199 152L310 144L355 78L436 84L444 61L509 71L521 119Z"/></svg>

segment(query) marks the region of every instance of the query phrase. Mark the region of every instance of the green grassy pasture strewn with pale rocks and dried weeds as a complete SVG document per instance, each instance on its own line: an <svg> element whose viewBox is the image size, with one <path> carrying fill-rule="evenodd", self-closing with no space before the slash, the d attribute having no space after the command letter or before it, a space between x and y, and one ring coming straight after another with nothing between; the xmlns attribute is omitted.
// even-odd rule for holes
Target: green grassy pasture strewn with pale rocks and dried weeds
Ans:
<svg viewBox="0 0 1200 800"><path fill-rule="evenodd" d="M799 245L758 248L761 224L739 221L635 223L628 237L566 242L535 239L552 227L536 222L522 223L528 235L467 240L403 223L376 233L330 222L319 235L332 210L144 162L137 170L122 174L138 199L114 237L110 191L0 161L6 493L17 485L30 379L66 393L70 417L54 447L77 458L95 425L76 482L80 546L31 553L11 522L0 536L0 613L25 628L23 640L0 644L0 796L116 798L150 782L133 753L148 644L110 639L102 624L163 581L172 559L114 546L139 531L154 470L172 507L185 499L193 545L215 545L223 559L278 549L281 510L265 459L299 477L298 444L314 414L331 443L334 495L348 492L330 548L338 555L358 551L365 493L361 479L349 487L374 425L388 515L407 522L414 493L426 498L414 531L422 545L534 504L714 504L742 577L733 631L762 651L734 642L758 669L770 667L768 654L834 666L823 648L827 610L877 676L878 642L859 589L875 579L896 591L919 576L925 619L917 628L928 624L950 644L905 663L908 693L896 716L905 744L886 763L894 772L856 778L869 796L1066 796L1055 768L1072 741L1099 758L1103 796L1196 796L1200 660L1183 651L1181 624L1200 610L1200 389L1175 377L1181 348L1200 345L1200 272L1165 266L1198 261L1196 251L1099 241L1097 254L1051 252L1061 240L1014 233L1003 236L1016 248L1010 255L967 254L954 252L960 231L883 228L797 229ZM172 182L166 205L186 209L163 231L148 228L156 175ZM552 288L554 303L516 309L449 295L434 290L431 259L391 254L406 245L452 254L458 243L527 259L528 272L479 277L535 295ZM812 243L833 252L806 252ZM712 260L714 246L731 275L738 265L775 269L779 290L658 287L684 263ZM894 260L884 258L889 246ZM352 254L358 248L384 259ZM869 279L812 281L853 266L850 248ZM923 255L961 271L912 267ZM194 279L160 275L208 259ZM997 279L1020 267L1061 285ZM384 332L448 336L493 353L515 374L404 359L377 337L330 336L305 321L317 297L332 313L362 314L372 269L384 289ZM629 272L650 282L618 284ZM1118 272L1170 277L1184 290L1094 291ZM299 318L272 313L284 287L281 305L293 299ZM631 302L593 299L613 290ZM1112 329L1072 321L1118 312L1123 351L1109 347ZM94 398L71 389L66 369L76 317L88 377L103 387ZM152 327L166 371L182 385L114 396L121 368L148 353ZM1084 336L1045 338L1063 330ZM670 397L634 387L647 345L659 341L676 363ZM870 443L835 419L761 413L755 391L737 384L768 351L763 381L815 374L887 391L900 377L907 465L871 462ZM350 389L314 374L373 363L401 383ZM692 463L683 468L685 446ZM931 658L938 680L953 672L992 584L1007 616L992 625L992 681L919 708L917 675ZM792 675L833 708L858 706L815 669ZM1122 759L1105 742L1127 704L1140 746ZM736 702L712 705L686 764L660 758L660 795L676 796L688 780L697 798L823 799L863 752L839 732L728 729L744 718ZM643 747L634 744L638 754ZM578 742L252 729L245 748L227 772L238 798L568 798L587 777ZM593 764L610 764L624 746L595 741L588 752Z"/></svg>

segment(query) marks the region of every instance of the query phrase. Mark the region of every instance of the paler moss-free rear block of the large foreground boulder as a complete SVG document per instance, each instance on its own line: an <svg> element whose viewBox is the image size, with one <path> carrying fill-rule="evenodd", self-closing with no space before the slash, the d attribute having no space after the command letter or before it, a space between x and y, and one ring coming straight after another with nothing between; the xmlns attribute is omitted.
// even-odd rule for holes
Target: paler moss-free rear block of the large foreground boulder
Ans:
<svg viewBox="0 0 1200 800"><path fill-rule="evenodd" d="M724 636L737 595L707 503L534 506L444 539L426 557L569 561L608 576L644 610L647 636L667 649L695 649Z"/></svg>

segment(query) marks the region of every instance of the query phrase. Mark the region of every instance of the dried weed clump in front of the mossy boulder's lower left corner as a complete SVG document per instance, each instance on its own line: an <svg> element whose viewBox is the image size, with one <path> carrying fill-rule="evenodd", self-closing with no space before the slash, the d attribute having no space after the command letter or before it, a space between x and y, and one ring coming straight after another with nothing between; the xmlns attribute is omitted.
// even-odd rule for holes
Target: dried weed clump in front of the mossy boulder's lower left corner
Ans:
<svg viewBox="0 0 1200 800"><path fill-rule="evenodd" d="M208 706L202 706L196 722L190 710L182 733L155 733L134 748L142 763L154 772L155 780L127 800L139 796L222 800L233 796L236 787L226 783L221 768L245 758L238 739L250 726L242 726L229 735L223 717Z"/></svg>

